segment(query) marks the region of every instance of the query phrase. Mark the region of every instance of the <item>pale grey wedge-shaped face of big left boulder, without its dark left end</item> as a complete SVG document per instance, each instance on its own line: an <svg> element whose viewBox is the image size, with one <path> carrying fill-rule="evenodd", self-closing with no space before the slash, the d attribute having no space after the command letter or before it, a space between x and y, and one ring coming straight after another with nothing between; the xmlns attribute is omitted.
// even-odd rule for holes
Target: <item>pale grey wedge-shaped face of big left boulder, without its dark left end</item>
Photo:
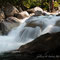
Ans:
<svg viewBox="0 0 60 60"><path fill-rule="evenodd" d="M6 34L8 34L13 28L16 28L20 25L19 22L4 21L4 26L6 27Z"/></svg>

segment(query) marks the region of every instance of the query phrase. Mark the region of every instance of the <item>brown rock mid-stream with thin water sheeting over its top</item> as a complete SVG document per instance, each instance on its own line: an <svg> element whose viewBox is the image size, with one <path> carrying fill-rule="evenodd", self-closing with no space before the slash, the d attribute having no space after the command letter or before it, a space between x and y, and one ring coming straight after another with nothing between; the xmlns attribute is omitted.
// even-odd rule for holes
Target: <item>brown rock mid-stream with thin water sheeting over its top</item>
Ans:
<svg viewBox="0 0 60 60"><path fill-rule="evenodd" d="M45 23L44 21L38 21L38 16L31 16L26 22L26 26L27 27L36 27L36 26L39 26L40 28L44 29L45 28Z"/></svg>

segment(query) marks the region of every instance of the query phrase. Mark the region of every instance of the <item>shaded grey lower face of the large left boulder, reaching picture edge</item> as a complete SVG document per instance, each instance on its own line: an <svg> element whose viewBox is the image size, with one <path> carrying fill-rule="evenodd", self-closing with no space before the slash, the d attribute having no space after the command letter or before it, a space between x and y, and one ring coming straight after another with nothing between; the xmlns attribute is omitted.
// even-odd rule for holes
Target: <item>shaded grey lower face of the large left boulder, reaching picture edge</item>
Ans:
<svg viewBox="0 0 60 60"><path fill-rule="evenodd" d="M19 22L3 21L0 23L0 35L7 35L13 28L19 26Z"/></svg>

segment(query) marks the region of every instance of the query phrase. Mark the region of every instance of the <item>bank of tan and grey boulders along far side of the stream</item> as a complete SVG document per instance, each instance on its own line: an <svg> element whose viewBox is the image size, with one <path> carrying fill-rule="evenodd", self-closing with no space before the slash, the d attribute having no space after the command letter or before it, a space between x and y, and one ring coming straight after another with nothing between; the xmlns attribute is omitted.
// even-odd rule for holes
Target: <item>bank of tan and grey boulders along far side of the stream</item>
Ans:
<svg viewBox="0 0 60 60"><path fill-rule="evenodd" d="M0 8L0 35L6 35L12 28L19 26L24 18L31 16L49 16L54 13L44 11L40 7L28 9L27 11L20 10L15 6L8 4L6 7ZM56 16L60 16L60 13L55 13Z"/></svg>

